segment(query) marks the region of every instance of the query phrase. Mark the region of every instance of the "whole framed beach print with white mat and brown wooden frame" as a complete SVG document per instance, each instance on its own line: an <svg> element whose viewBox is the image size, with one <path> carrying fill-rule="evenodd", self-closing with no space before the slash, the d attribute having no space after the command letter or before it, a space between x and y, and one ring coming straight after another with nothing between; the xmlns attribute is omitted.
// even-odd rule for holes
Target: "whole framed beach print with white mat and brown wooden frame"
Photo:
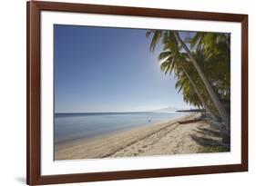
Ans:
<svg viewBox="0 0 256 186"><path fill-rule="evenodd" d="M248 170L248 15L27 2L27 184Z"/></svg>

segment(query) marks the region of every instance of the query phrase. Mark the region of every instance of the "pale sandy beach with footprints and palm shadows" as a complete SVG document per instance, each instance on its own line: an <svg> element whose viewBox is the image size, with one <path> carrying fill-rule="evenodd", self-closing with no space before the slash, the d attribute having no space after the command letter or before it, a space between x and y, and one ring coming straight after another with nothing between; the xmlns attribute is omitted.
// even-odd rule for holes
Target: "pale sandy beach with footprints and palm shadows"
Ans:
<svg viewBox="0 0 256 186"><path fill-rule="evenodd" d="M225 152L216 124L200 113L93 139L58 144L55 160Z"/></svg>

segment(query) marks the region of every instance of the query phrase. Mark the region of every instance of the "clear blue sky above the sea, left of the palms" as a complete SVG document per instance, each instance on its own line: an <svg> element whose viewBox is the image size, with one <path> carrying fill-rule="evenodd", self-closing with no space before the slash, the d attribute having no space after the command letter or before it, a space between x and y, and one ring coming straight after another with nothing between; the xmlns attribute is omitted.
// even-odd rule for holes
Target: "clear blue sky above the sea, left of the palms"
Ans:
<svg viewBox="0 0 256 186"><path fill-rule="evenodd" d="M138 112L186 107L173 76L160 71L147 30L54 27L55 112Z"/></svg>

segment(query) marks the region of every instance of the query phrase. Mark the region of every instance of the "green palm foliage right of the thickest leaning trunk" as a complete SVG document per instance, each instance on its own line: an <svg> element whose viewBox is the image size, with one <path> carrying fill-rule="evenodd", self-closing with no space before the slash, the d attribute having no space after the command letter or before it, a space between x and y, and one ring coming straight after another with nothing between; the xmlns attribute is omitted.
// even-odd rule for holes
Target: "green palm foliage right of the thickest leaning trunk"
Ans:
<svg viewBox="0 0 256 186"><path fill-rule="evenodd" d="M204 38L197 41L195 38L201 34ZM197 61L219 96L220 102L230 112L230 105L227 105L230 101L230 48L228 45L230 42L225 39L226 35L229 34L197 33L189 44L191 48L196 48L194 53ZM197 45L193 44L195 41Z"/></svg>

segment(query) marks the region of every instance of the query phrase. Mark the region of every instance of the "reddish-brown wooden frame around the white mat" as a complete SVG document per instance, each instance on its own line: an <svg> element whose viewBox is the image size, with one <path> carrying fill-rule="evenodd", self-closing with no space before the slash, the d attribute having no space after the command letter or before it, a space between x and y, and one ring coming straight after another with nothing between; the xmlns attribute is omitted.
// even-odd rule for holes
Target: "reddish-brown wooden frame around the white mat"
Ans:
<svg viewBox="0 0 256 186"><path fill-rule="evenodd" d="M248 15L194 12L109 5L27 2L27 108L26 108L26 181L29 185L80 181L110 181L152 177L248 171ZM241 23L241 163L196 167L164 168L136 171L107 171L63 175L41 175L41 41L40 14L42 11L89 13L101 15L130 15L177 18L189 20Z"/></svg>

